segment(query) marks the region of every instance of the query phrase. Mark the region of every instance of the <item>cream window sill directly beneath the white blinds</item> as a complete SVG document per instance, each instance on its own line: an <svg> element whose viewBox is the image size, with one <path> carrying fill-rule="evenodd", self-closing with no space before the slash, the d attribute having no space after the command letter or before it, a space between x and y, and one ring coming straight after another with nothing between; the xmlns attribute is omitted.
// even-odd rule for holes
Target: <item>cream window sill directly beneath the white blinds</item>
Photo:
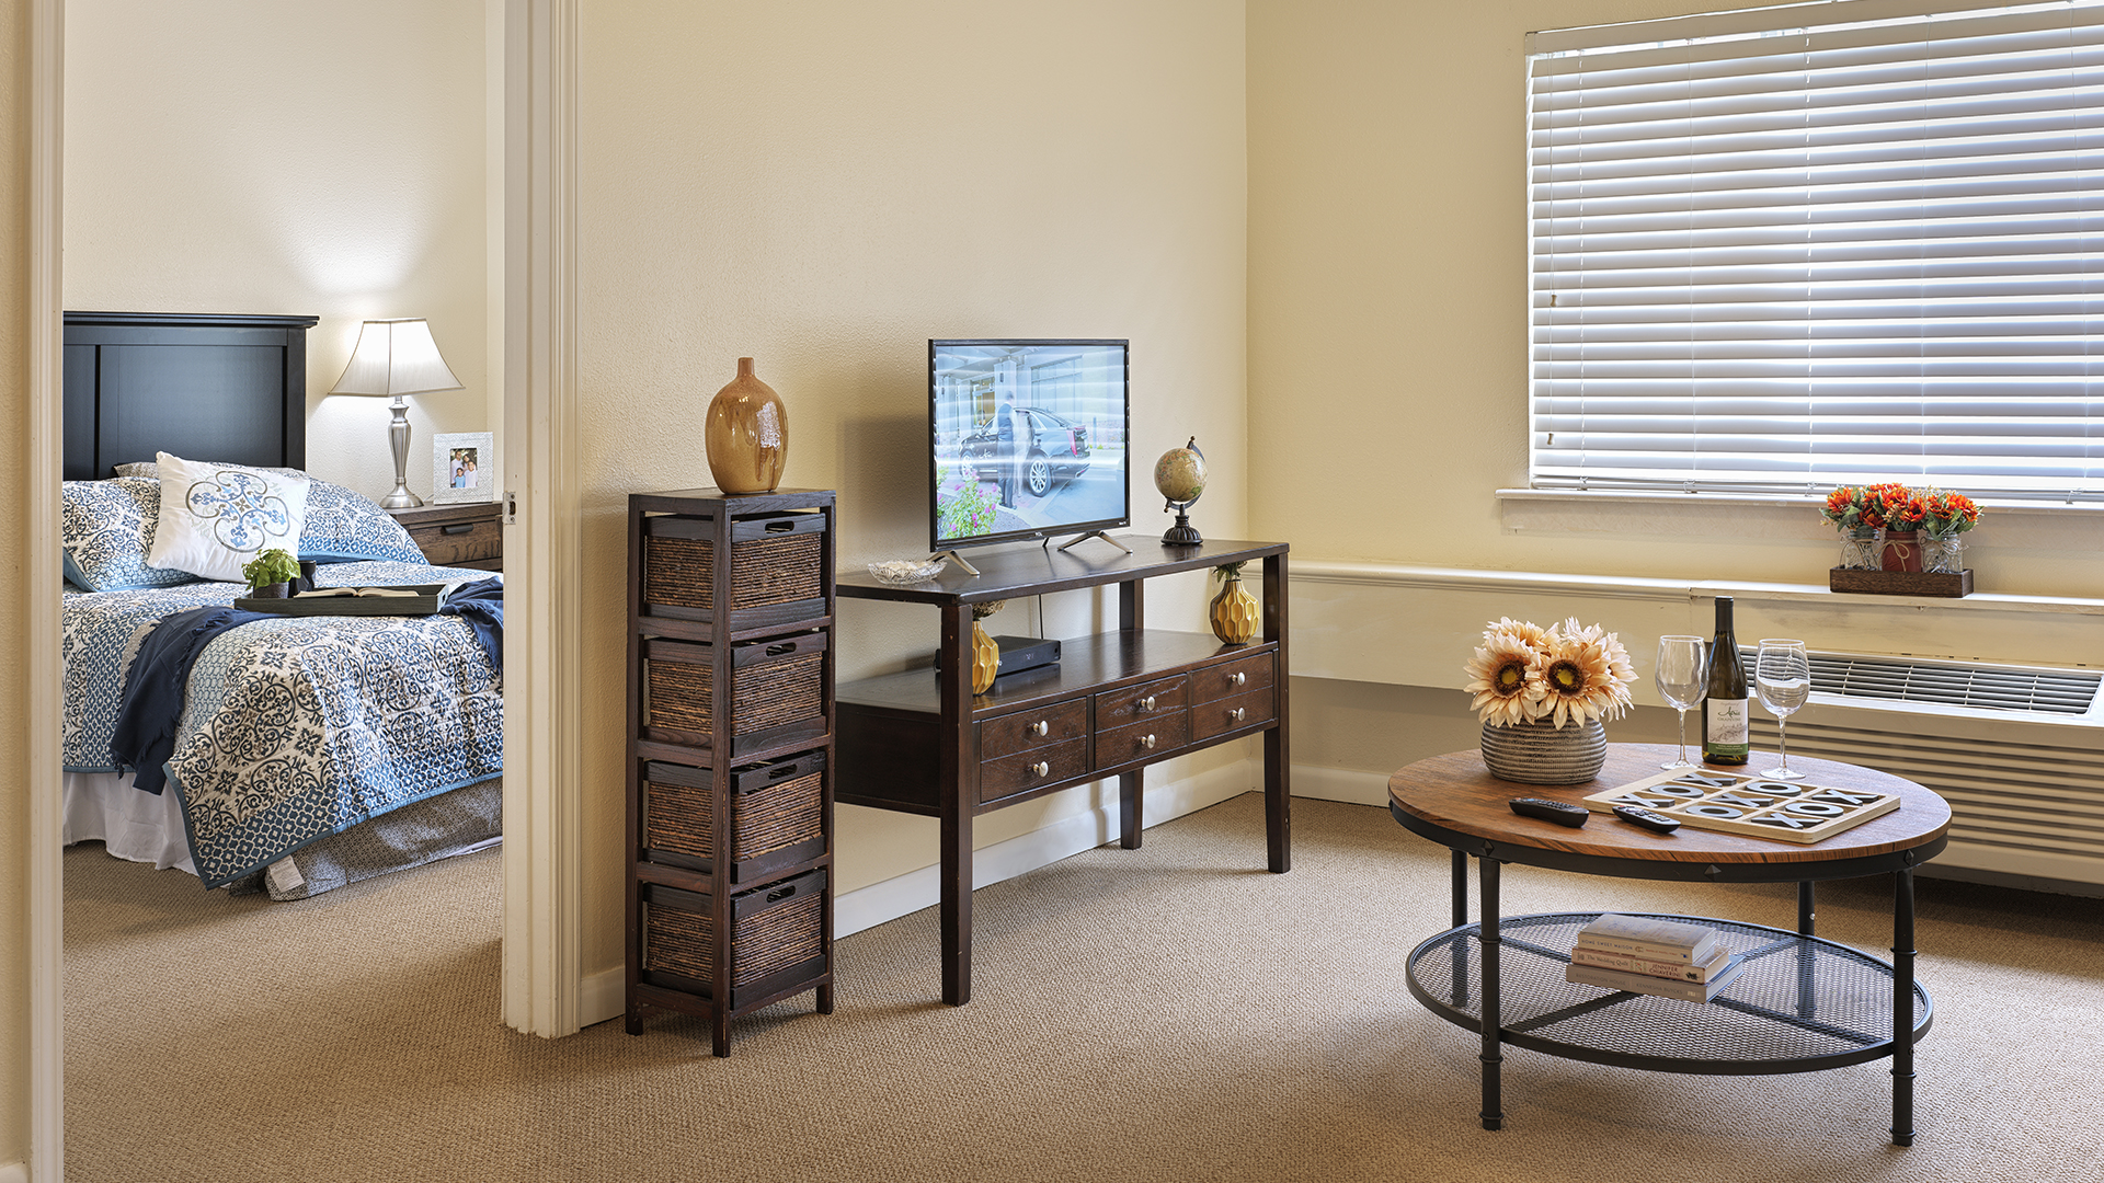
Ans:
<svg viewBox="0 0 2104 1183"><path fill-rule="evenodd" d="M1500 488L1498 514L1515 533L1687 535L1729 530L1744 539L1830 543L1820 497L1780 493L1633 493ZM2104 549L2104 505L1980 501L1995 545Z"/></svg>

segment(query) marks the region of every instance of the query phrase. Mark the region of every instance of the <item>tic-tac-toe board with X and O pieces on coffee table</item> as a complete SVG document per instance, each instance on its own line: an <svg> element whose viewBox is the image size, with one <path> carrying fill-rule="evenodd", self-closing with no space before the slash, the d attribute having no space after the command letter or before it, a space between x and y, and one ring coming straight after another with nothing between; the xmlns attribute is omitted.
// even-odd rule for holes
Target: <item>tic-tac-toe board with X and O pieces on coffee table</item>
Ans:
<svg viewBox="0 0 2104 1183"><path fill-rule="evenodd" d="M1723 829L1812 844L1900 808L1900 798L1814 781L1765 781L1715 768L1685 768L1584 798L1595 813L1618 804L1656 808L1696 829Z"/></svg>

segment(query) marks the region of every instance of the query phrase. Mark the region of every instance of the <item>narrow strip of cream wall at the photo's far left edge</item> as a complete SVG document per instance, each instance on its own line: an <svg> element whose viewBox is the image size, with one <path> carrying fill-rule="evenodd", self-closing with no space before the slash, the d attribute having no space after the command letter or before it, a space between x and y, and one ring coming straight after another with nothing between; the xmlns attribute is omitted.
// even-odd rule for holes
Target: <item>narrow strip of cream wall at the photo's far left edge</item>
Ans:
<svg viewBox="0 0 2104 1183"><path fill-rule="evenodd" d="M0 0L0 488L27 503L29 453L29 6ZM0 1172L29 1158L29 783L27 530L0 516Z"/></svg>

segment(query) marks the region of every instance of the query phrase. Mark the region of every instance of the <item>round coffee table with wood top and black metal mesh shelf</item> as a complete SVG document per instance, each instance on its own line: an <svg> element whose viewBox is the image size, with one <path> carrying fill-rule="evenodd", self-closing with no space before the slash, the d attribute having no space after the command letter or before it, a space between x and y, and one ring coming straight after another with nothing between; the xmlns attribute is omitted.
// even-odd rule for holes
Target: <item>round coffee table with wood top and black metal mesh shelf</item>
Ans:
<svg viewBox="0 0 2104 1183"><path fill-rule="evenodd" d="M1418 760L1389 777L1389 813L1454 850L1454 928L1410 954L1410 994L1481 1034L1483 1128L1500 1111L1500 1044L1544 1055L1713 1076L1818 1071L1891 1057L1891 1141L1913 1145L1915 1042L1934 1006L1915 981L1915 867L1942 853L1950 806L1873 768L1797 758L1809 783L1900 798L1900 806L1822 842L1795 844L1683 825L1652 834L1595 813L1584 827L1521 817L1511 798L1580 798L1654 777L1675 747L1616 743L1584 785L1519 785L1483 768L1475 749ZM1738 773L1736 768L1729 768ZM1469 857L1481 878L1481 922L1469 922ZM1797 930L1694 918L1742 954L1746 968L1706 1004L1576 985L1563 979L1578 928L1599 914L1498 916L1504 863L1591 876L1683 882L1795 882ZM1814 935L1818 880L1894 876L1891 951L1883 962ZM1687 920L1673 916L1668 920Z"/></svg>

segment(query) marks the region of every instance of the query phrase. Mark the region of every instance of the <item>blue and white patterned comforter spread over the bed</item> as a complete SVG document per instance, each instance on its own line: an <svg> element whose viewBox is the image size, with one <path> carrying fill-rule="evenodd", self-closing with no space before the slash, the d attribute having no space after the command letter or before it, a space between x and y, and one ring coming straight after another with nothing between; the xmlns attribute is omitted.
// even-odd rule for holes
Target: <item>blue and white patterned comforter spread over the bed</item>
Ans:
<svg viewBox="0 0 2104 1183"><path fill-rule="evenodd" d="M406 562L322 566L324 587L488 573ZM149 625L231 604L238 583L67 592L65 766L116 770L124 669ZM404 804L503 770L503 686L459 617L288 617L215 638L189 676L166 764L204 886Z"/></svg>

